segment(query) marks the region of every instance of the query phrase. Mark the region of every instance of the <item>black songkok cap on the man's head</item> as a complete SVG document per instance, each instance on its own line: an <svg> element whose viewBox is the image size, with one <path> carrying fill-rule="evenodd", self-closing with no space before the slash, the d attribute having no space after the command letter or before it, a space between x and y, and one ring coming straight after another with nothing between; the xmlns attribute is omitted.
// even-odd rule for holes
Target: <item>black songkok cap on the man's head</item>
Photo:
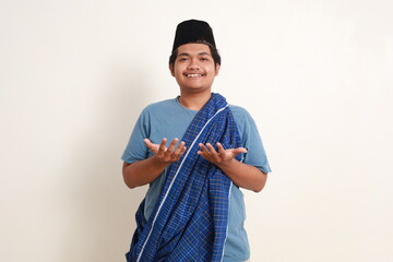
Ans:
<svg viewBox="0 0 393 262"><path fill-rule="evenodd" d="M216 47L212 27L206 22L199 20L181 22L176 28L172 51L181 45L201 41Z"/></svg>

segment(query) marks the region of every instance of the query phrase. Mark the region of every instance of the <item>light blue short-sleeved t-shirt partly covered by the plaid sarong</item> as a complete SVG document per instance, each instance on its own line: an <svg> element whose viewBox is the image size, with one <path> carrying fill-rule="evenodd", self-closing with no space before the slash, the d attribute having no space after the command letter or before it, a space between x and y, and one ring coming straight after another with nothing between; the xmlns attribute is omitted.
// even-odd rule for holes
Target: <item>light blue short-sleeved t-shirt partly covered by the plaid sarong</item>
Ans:
<svg viewBox="0 0 393 262"><path fill-rule="evenodd" d="M229 108L238 127L242 147L248 150L242 162L255 166L263 172L270 172L271 168L255 122L246 109L231 105ZM168 142L175 138L181 140L196 114L198 111L181 106L178 98L148 105L139 117L121 159L131 164L152 156L153 154L143 141L146 138L156 144L159 144L164 138ZM158 201L165 177L166 170L150 184L145 196L144 216L146 219ZM231 187L224 262L246 261L250 257L247 233L243 227L245 219L242 192L238 187Z"/></svg>

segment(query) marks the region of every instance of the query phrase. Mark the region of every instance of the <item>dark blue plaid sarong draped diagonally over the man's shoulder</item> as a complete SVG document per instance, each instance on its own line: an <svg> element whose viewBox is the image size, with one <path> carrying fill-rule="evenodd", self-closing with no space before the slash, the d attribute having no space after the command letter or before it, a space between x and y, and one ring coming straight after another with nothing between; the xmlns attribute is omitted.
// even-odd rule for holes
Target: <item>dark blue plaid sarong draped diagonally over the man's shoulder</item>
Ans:
<svg viewBox="0 0 393 262"><path fill-rule="evenodd" d="M128 262L212 261L224 255L231 181L196 152L199 143L224 148L241 146L240 135L226 99L212 94L182 139L188 150L171 164L148 221L144 201L136 212L136 230ZM240 159L240 155L237 156Z"/></svg>

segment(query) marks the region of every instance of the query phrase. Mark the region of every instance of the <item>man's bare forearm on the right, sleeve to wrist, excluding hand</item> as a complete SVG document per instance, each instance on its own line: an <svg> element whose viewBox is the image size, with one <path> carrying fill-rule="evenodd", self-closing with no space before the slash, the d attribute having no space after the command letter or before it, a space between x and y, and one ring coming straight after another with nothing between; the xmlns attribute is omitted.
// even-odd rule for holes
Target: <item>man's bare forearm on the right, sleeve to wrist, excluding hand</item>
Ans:
<svg viewBox="0 0 393 262"><path fill-rule="evenodd" d="M266 183L266 174L254 166L243 164L235 158L229 162L219 163L217 166L240 188L260 192Z"/></svg>

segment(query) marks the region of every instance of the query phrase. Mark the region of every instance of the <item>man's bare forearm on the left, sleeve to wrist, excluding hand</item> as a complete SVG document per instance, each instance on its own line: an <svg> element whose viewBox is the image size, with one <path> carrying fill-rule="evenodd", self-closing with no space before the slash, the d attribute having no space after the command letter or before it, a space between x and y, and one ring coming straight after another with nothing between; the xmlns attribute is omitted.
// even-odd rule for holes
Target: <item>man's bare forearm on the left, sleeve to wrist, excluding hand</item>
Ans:
<svg viewBox="0 0 393 262"><path fill-rule="evenodd" d="M127 187L136 188L153 182L169 165L152 156L132 164L123 163L122 175Z"/></svg>

